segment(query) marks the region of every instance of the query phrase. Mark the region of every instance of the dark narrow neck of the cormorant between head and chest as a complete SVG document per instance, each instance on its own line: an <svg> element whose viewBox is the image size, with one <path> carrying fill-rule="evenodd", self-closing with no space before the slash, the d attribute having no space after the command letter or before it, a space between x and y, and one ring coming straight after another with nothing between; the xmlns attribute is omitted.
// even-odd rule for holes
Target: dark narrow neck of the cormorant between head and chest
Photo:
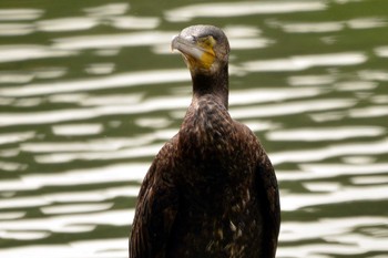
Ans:
<svg viewBox="0 0 388 258"><path fill-rule="evenodd" d="M229 94L229 79L227 64L211 74L192 73L193 80L193 101L204 95L214 95L221 100L222 105L227 110Z"/></svg>

